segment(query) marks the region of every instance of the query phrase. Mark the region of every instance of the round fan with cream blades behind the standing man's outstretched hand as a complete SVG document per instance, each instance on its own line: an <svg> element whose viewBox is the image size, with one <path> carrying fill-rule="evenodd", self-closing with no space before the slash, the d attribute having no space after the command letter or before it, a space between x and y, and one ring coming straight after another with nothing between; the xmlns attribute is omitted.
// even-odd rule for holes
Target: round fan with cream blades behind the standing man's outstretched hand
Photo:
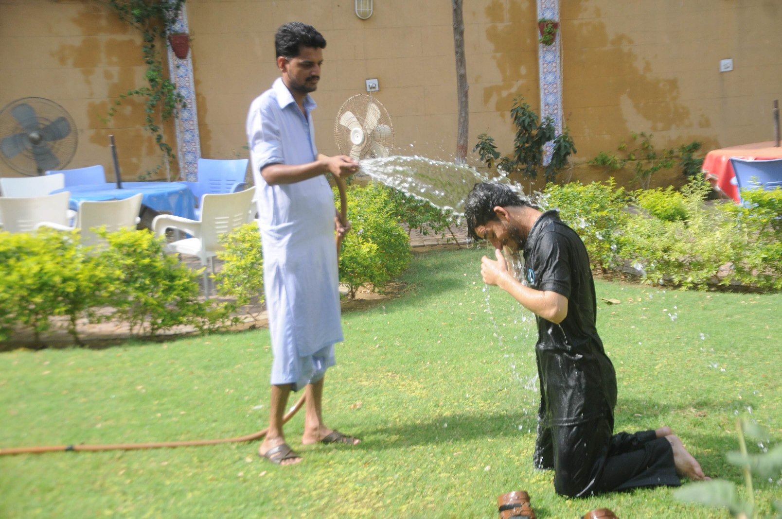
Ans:
<svg viewBox="0 0 782 519"><path fill-rule="evenodd" d="M339 152L353 159L387 157L393 150L391 117L377 99L353 95L337 113L334 138Z"/></svg>

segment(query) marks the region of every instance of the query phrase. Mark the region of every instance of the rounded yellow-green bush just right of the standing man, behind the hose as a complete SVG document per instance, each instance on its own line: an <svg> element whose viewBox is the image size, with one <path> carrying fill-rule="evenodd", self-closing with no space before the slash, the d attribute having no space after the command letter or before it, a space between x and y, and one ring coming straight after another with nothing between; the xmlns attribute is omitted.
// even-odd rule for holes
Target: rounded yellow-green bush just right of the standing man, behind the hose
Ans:
<svg viewBox="0 0 782 519"><path fill-rule="evenodd" d="M335 199L339 192L334 190ZM353 229L343 240L339 256L339 281L350 298L358 288L382 288L410 263L410 240L396 217L398 208L381 184L348 187L348 219Z"/></svg>

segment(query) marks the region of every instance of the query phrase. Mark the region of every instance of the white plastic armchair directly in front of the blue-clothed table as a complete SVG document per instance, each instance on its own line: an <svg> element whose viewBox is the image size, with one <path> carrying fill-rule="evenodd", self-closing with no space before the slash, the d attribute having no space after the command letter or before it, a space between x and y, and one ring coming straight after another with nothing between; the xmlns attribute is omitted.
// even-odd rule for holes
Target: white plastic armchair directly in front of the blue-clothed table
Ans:
<svg viewBox="0 0 782 519"><path fill-rule="evenodd" d="M138 217L142 208L142 198L144 195L138 193L127 199L103 200L101 202L85 200L79 204L79 216L76 225L68 227L67 225L54 224L52 222L41 222L38 227L54 227L60 231L81 231L81 245L98 245L102 239L95 231L94 227L106 227L106 231L113 232L120 229L135 229L141 219Z"/></svg>

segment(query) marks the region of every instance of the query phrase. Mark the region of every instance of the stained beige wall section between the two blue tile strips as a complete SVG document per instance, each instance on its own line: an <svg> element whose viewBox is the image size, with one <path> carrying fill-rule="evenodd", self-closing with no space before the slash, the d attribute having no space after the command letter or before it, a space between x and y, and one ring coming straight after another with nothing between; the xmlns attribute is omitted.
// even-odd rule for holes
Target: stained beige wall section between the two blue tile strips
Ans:
<svg viewBox="0 0 782 519"><path fill-rule="evenodd" d="M507 111L515 92L538 104L535 35L517 27L536 27L535 5L505 3L465 2L473 136L508 120L496 110ZM244 156L246 109L279 76L274 32L300 20L327 41L314 94L321 152L338 151L332 134L339 107L351 95L366 93L366 79L377 78L380 91L373 95L392 117L398 152L450 159L457 123L450 2L374 5L371 18L361 20L348 0L188 2L203 156ZM496 133L501 140L507 132Z"/></svg>

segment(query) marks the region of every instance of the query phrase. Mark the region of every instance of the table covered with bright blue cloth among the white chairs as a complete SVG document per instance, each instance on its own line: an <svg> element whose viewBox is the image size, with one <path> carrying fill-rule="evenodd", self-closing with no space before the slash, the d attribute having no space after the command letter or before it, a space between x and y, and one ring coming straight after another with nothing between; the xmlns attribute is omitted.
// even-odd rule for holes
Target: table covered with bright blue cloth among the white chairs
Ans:
<svg viewBox="0 0 782 519"><path fill-rule="evenodd" d="M123 182L121 189L117 184L72 185L52 193L60 191L70 191L70 209L74 210L78 210L79 202L84 200L119 200L141 193L142 205L160 213L195 220L195 195L181 182Z"/></svg>

